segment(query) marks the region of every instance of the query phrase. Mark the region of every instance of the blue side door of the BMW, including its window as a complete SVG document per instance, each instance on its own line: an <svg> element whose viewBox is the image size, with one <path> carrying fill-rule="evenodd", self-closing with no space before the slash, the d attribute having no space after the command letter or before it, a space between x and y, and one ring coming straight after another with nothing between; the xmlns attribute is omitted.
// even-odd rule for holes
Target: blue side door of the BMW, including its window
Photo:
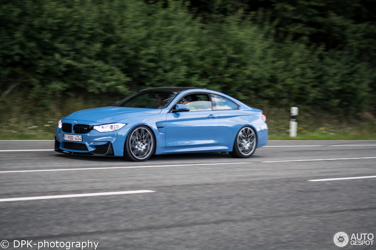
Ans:
<svg viewBox="0 0 376 250"><path fill-rule="evenodd" d="M167 113L166 148L218 145L219 119L209 94L191 94L190 111Z"/></svg>

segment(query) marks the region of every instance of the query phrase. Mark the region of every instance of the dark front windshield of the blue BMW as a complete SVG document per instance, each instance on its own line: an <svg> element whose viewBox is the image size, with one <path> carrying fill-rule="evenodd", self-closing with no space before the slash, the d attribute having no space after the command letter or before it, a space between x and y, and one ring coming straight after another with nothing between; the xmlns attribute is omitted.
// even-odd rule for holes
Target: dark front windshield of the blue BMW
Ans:
<svg viewBox="0 0 376 250"><path fill-rule="evenodd" d="M177 95L169 91L142 91L115 104L115 107L165 108Z"/></svg>

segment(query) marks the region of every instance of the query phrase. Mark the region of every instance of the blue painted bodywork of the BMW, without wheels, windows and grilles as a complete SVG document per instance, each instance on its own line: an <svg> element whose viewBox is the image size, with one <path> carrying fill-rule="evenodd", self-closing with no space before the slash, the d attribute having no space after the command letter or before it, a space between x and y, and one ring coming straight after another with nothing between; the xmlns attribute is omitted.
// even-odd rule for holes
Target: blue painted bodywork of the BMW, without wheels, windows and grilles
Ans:
<svg viewBox="0 0 376 250"><path fill-rule="evenodd" d="M207 93L223 96L238 104L237 110L205 110L171 112L172 107L183 96L190 93ZM268 140L268 127L261 119L262 111L220 92L206 89L184 90L163 109L136 107L102 107L74 112L62 123L85 124L89 126L108 123L126 123L116 131L99 132L91 130L82 136L87 151L64 148L62 128L56 128L56 140L61 143L60 150L73 153L89 153L95 146L111 143L115 156L123 156L124 143L129 131L138 125L148 126L155 137L155 154L188 152L228 152L232 151L235 137L241 128L250 126L257 134L256 148L265 146ZM77 122L76 122L77 121ZM76 122L76 123L74 123Z"/></svg>

